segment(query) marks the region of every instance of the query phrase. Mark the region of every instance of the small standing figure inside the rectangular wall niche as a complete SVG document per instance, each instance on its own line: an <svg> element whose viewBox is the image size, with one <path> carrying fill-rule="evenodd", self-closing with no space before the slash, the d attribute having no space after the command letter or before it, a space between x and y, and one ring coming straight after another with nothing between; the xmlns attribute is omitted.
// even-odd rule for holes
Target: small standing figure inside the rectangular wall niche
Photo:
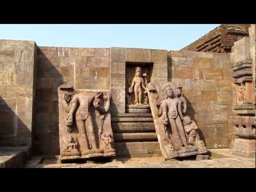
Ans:
<svg viewBox="0 0 256 192"><path fill-rule="evenodd" d="M132 79L132 85L129 87L129 93L133 92L134 88L134 94L135 94L135 105L142 105L142 89L146 90L144 80L141 77L141 68L136 67L135 70L135 76Z"/></svg>

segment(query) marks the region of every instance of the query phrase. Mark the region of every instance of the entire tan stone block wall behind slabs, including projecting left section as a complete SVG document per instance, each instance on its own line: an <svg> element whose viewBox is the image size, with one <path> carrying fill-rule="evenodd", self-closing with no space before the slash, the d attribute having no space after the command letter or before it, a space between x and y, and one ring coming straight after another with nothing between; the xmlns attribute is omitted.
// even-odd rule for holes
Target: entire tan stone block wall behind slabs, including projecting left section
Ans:
<svg viewBox="0 0 256 192"><path fill-rule="evenodd" d="M34 42L7 40L0 41L0 144L28 145L32 132L36 154L59 155L57 91L62 84L75 90L111 90L113 119L125 113L127 62L153 63L153 83L179 81L206 147L232 147L236 95L229 54L37 47Z"/></svg>

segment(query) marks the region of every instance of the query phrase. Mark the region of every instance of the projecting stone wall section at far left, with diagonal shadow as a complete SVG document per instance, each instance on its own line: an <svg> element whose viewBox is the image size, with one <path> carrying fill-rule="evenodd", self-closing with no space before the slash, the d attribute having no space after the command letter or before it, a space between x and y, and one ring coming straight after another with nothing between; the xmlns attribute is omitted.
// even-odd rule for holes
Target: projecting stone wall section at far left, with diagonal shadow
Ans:
<svg viewBox="0 0 256 192"><path fill-rule="evenodd" d="M37 46L0 40L0 146L31 144Z"/></svg>

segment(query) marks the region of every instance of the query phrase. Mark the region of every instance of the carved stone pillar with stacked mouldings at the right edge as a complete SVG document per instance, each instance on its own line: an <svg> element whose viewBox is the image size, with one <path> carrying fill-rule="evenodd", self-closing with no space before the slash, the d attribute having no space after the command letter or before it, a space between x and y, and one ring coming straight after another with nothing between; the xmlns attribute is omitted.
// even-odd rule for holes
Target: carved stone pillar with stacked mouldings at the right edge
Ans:
<svg viewBox="0 0 256 192"><path fill-rule="evenodd" d="M233 62L233 82L236 85L236 103L233 107L236 114L234 134L238 137L234 141L233 153L255 157L255 97L253 59L250 54L252 46L249 39L250 37L244 37L236 42L234 51L230 54L231 62Z"/></svg>

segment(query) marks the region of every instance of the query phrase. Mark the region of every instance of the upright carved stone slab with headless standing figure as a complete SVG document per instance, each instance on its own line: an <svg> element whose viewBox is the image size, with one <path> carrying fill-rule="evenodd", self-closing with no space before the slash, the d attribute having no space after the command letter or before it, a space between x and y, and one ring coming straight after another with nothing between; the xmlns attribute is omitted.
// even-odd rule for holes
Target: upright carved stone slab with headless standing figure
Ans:
<svg viewBox="0 0 256 192"><path fill-rule="evenodd" d="M115 156L110 93L58 87L61 161Z"/></svg>

